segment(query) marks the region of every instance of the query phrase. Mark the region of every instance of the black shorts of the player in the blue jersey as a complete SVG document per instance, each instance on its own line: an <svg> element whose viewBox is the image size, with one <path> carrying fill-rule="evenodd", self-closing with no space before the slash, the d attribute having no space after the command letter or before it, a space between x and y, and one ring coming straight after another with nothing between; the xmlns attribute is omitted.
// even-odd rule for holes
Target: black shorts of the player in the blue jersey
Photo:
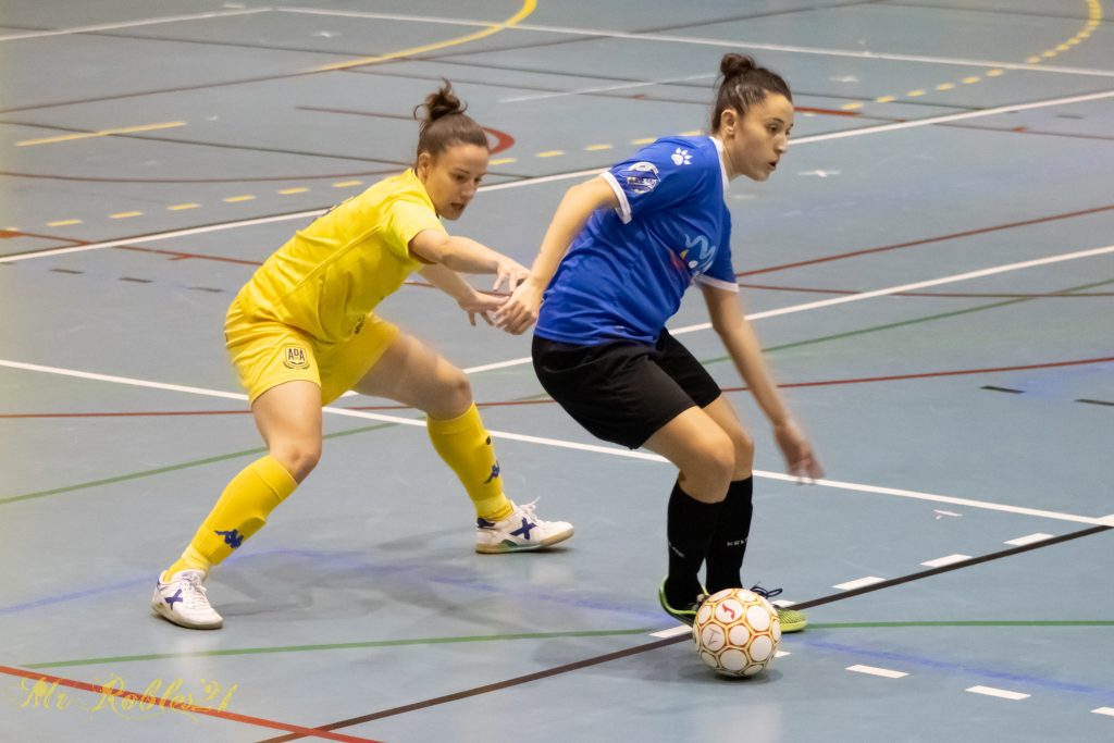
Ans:
<svg viewBox="0 0 1114 743"><path fill-rule="evenodd" d="M722 394L670 333L656 345L571 345L534 336L534 371L554 400L593 436L637 449L663 426Z"/></svg>

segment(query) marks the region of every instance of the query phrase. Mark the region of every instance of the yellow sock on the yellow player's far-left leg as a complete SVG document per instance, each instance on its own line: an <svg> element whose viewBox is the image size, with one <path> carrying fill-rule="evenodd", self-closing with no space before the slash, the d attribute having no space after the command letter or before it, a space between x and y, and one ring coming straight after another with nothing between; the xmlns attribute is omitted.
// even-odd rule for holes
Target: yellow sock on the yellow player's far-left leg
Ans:
<svg viewBox="0 0 1114 743"><path fill-rule="evenodd" d="M164 577L186 569L207 571L219 565L244 539L263 528L271 511L296 487L297 481L271 456L245 467L228 482L186 551Z"/></svg>

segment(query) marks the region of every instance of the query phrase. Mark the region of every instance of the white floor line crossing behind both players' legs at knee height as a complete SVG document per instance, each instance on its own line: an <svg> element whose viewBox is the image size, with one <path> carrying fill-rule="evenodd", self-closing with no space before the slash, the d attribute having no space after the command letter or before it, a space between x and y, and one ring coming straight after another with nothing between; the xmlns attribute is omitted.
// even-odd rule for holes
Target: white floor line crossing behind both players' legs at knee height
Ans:
<svg viewBox="0 0 1114 743"><path fill-rule="evenodd" d="M202 387L189 387L185 384L168 384L165 382L153 382L148 380L134 379L130 377L117 377L114 374L99 374L94 372L78 371L75 369L62 369L59 366L46 366L42 364L29 364L21 361L9 361L6 359L0 359L0 366L7 366L9 369L19 369L23 371L35 371L48 374L59 374L62 377L72 377L76 379L87 379L99 382L110 382L114 384L126 384L129 387L141 387L154 390L166 390L168 392L184 392L187 394L198 394L209 398L223 398L225 400L242 400L247 401L247 395L240 392L225 392L222 390L209 390ZM402 426L412 426L421 428L426 426L426 421L416 418L402 418L400 416L388 416L383 413L373 413L365 410L348 410L345 408L333 408L326 407L322 408L322 411L333 416L344 416L346 418L360 418L364 420L377 420L387 423L399 423ZM618 447L612 446L600 446L593 443L580 443L577 441L565 441L563 439L549 439L539 436L528 436L525 433L512 433L509 431L496 431L488 430L488 433L492 439L505 439L508 441L521 441L525 443L537 443L541 446L554 447L557 449L571 449L576 451L590 451L594 453L608 454L612 457L624 457L626 459L639 459L643 461L652 461L659 463L668 463L668 460L655 453L647 451L631 451L629 449L620 449ZM791 475L784 475L782 472L770 472L766 470L754 470L754 477L765 478L769 480L782 480L788 482L797 482L798 478ZM843 482L840 480L827 480L820 479L815 480L814 485L822 488L836 488L839 490L853 490L858 492L870 492L885 496L897 496L900 498L912 498L919 500L929 500L937 502L955 502L962 504L970 508L983 508L987 510L1001 511L1006 514L1018 514L1024 516L1036 516L1039 518L1047 518L1059 521L1073 521L1077 524L1092 524L1097 526L1114 526L1106 525L1101 519L1091 518L1087 516L1077 516L1074 514L1062 514L1058 511L1046 511L1035 508L1023 508L1019 506L1007 506L1004 504L993 504L983 500L971 500L968 498L952 498L950 496L939 496L929 492L918 492L916 490L903 490L900 488L885 488L872 485L860 485L857 482ZM876 578L873 581L881 580L882 578ZM839 587L847 587L847 584L841 584Z"/></svg>

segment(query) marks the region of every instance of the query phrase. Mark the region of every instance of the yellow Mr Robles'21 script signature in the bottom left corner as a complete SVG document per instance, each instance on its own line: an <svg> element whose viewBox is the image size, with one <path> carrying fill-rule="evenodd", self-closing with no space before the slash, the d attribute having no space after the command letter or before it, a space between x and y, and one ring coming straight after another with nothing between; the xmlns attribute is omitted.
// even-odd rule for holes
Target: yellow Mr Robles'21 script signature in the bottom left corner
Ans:
<svg viewBox="0 0 1114 743"><path fill-rule="evenodd" d="M98 682L99 683L99 682ZM143 720L159 715L167 710L192 713L195 708L204 707L223 712L232 701L232 695L236 693L240 684L233 684L227 688L215 681L201 680L201 693L195 697L189 691L184 690L185 680L177 678L168 684L162 678L147 684L147 688L140 692L130 692L124 678L111 674L107 682L94 686L92 693L99 694L97 701L91 705L82 705L66 691L59 688L57 681L49 678L20 680L20 691L22 701L20 708L25 710L70 710L78 708L85 712L110 711L120 717L129 720ZM219 700L219 701L218 701Z"/></svg>

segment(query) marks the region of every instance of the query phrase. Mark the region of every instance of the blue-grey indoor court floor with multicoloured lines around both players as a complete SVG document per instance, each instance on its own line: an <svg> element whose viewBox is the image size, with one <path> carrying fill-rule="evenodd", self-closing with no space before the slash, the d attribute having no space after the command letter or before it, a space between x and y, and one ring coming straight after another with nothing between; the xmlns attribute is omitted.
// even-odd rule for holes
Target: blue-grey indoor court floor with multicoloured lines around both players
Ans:
<svg viewBox="0 0 1114 743"><path fill-rule="evenodd" d="M377 313L575 537L477 554L422 413L351 394L211 574L224 627L152 613L265 451L229 302L411 165L427 94L491 143L449 231L529 265L568 187L706 133L727 51L793 91L726 198L824 478L784 473L698 292L668 327L756 442L743 580L809 617L764 673L658 606L675 468L420 276ZM4 0L0 137L0 740L1114 740L1114 0Z"/></svg>

